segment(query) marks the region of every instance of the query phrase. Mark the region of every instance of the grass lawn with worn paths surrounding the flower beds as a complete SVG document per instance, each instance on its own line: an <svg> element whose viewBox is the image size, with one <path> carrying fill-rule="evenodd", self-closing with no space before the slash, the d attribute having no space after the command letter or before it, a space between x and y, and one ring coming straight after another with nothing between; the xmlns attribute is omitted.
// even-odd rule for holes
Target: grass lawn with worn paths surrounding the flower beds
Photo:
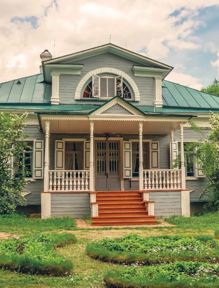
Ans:
<svg viewBox="0 0 219 288"><path fill-rule="evenodd" d="M159 235L209 235L213 236L214 231L219 229L219 213L208 213L202 216L171 217L167 220L175 226L153 227L152 225L142 228L95 228L80 229L75 225L74 219L54 218L54 219L28 219L25 215L15 214L12 216L0 216L0 237L8 233L13 236L27 235L42 232L60 232L68 231L74 233L78 242L76 244L65 246L59 249L64 257L71 259L74 263L72 275L66 277L53 276L35 276L21 274L19 272L0 270L0 288L18 287L18 288L87 288L87 287L106 287L103 281L103 275L111 269L121 265L113 263L104 263L91 259L87 256L85 248L93 239L101 240L104 237L112 236L123 237L127 234L136 233L140 236L159 236ZM116 267L115 267L116 266ZM116 268L117 269L117 268Z"/></svg>

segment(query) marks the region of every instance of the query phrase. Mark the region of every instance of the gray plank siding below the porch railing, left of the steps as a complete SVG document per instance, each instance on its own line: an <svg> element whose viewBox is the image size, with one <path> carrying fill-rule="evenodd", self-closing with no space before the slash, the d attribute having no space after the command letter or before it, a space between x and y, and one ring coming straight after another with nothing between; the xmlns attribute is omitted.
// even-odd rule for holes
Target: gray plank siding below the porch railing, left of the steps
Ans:
<svg viewBox="0 0 219 288"><path fill-rule="evenodd" d="M90 214L89 193L51 193L51 217L81 218Z"/></svg>

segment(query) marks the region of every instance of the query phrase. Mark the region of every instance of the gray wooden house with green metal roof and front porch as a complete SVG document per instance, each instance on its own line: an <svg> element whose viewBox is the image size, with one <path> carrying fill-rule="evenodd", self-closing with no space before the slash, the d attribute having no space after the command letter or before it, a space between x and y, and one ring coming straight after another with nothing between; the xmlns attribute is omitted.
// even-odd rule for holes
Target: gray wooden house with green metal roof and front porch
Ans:
<svg viewBox="0 0 219 288"><path fill-rule="evenodd" d="M28 112L27 205L42 218L155 224L190 215L206 178L184 145L209 132L219 98L165 80L173 67L106 44L52 58L40 74L0 84L0 109ZM181 165L171 169L176 155Z"/></svg>

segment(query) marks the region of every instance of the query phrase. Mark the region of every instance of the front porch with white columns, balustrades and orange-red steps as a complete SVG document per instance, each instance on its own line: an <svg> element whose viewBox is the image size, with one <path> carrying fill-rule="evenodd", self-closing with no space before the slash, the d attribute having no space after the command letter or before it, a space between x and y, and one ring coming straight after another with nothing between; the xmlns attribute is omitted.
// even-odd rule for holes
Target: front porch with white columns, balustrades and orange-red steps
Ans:
<svg viewBox="0 0 219 288"><path fill-rule="evenodd" d="M149 218L155 221L151 220L151 224L153 224L156 223L154 209L159 208L162 211L162 207L170 207L171 205L167 205L167 203L171 202L171 199L175 199L174 201L177 203L177 213L189 215L189 191L185 189L183 150L183 125L188 121L188 117L163 117L161 121L161 117L158 119L158 117L136 117L134 115L124 117L121 115L65 116L41 114L40 118L46 137L44 191L41 193L42 218L53 217L56 215L55 210L61 209L66 212L64 215L71 215L68 211L74 204L77 204L76 195L86 199L89 195L93 225L101 225L101 221L104 225L106 223L108 225L116 225L116 222L112 221L113 219L117 219L117 223L120 221L119 225L127 225L127 221L132 220L135 222L140 221L136 223L146 224L149 223L145 222L149 221ZM174 130L178 128L180 128L180 141L182 144L180 146L182 155L181 169L170 169L169 163L166 163L165 169L160 169L159 141L145 139L144 135L147 134L147 138L150 138L149 135L152 132L160 136L169 135L171 164L173 165ZM68 134L69 138L55 140L55 161L54 165L49 165L51 135L55 137L54 134L58 135L60 133ZM77 134L77 138L75 138L75 134ZM132 135L132 139L127 138L131 138L130 135ZM126 139L128 140L126 141ZM81 144L84 151L83 168L81 166L81 168L72 170L65 167L64 158L66 153L64 152L64 147L66 141L83 142ZM133 146L133 142L138 143L138 162L136 162L136 165L138 165L138 177L133 177L134 165L132 165L133 153L131 146L136 146ZM145 145L144 143L146 142L149 144ZM115 143L118 143L118 145ZM149 147L149 158L147 160L149 164L147 167L145 167L144 145ZM104 164L100 164L101 159ZM128 183L130 183L129 190L126 189ZM133 183L135 183L134 189L132 187ZM71 201L68 202L70 195L72 195ZM104 207L105 210L101 210L103 207L101 199L103 199L104 195L107 196L104 199L104 203L107 205ZM132 196L136 199L132 199ZM54 200L55 197L57 198L56 200ZM55 207L60 199L58 197L62 197L62 201L65 203ZM65 200L63 200L63 197L65 197ZM138 201L135 202L137 199ZM56 201L56 203L53 201ZM136 206L137 203L141 205ZM156 203L160 203L160 206L157 206ZM83 209L82 206L83 201L80 204L80 209ZM88 211L88 204L86 204L86 207L86 211ZM141 211L138 211L139 209L137 208L141 208ZM171 207L167 209L171 211ZM63 214L60 212L59 215ZM111 216L110 218L109 215ZM107 218L108 221L105 221ZM133 221L129 223L133 225Z"/></svg>

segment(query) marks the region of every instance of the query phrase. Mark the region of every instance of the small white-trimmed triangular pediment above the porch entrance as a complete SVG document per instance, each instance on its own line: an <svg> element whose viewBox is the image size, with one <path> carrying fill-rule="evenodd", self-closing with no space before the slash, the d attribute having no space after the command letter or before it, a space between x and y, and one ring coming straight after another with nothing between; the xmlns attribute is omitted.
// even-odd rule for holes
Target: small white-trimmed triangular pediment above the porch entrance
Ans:
<svg viewBox="0 0 219 288"><path fill-rule="evenodd" d="M97 109L91 112L91 115L126 115L137 116L144 115L142 111L136 109L120 96L115 96Z"/></svg>

